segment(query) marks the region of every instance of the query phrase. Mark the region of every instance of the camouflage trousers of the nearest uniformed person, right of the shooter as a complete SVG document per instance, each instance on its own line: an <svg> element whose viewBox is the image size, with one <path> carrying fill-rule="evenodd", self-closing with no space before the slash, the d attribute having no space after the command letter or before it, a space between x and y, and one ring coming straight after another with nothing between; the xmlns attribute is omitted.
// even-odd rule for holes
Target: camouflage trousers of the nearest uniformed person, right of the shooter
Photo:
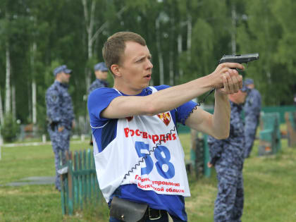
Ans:
<svg viewBox="0 0 296 222"><path fill-rule="evenodd" d="M242 168L220 163L215 164L215 168L218 194L214 205L214 221L239 222L244 207Z"/></svg>

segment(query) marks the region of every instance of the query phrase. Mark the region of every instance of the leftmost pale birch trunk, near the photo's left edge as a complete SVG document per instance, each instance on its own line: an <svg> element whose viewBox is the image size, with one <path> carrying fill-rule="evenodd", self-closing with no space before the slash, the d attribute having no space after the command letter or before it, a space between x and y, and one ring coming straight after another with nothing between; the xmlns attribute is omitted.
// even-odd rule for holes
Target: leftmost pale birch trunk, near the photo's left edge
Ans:
<svg viewBox="0 0 296 222"><path fill-rule="evenodd" d="M5 84L5 113L11 112L11 59L9 44L6 44L6 84Z"/></svg>

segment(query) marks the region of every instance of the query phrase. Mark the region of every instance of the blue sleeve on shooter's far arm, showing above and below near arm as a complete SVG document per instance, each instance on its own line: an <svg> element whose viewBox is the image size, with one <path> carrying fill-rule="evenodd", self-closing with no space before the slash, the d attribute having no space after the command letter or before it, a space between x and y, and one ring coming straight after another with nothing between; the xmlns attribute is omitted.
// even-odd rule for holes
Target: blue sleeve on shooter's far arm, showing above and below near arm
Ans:
<svg viewBox="0 0 296 222"><path fill-rule="evenodd" d="M164 89L167 89L168 87L170 87L170 86L159 85L155 88L156 88L156 90L164 90ZM192 113L192 109L195 108L195 106L197 106L197 103L195 101L187 101L187 102L185 102L185 104L179 106L177 108L177 113L178 113L177 122L185 125L185 121L187 120L190 113Z"/></svg>

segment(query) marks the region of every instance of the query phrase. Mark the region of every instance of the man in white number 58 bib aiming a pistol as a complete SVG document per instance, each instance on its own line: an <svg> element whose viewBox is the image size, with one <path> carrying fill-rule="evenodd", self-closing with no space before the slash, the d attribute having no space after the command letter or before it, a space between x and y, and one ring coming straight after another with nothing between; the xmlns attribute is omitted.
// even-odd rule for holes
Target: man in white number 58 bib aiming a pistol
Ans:
<svg viewBox="0 0 296 222"><path fill-rule="evenodd" d="M140 35L115 33L105 42L103 56L114 85L94 90L87 106L97 178L106 202L111 209L118 198L147 204L140 221L168 221L168 214L173 221L187 221L184 197L190 196L190 190L175 125L227 138L227 94L242 87L235 68L244 67L222 63L213 73L183 85L149 87L152 56ZM216 89L214 114L191 101L212 88ZM122 210L117 207L116 211ZM128 216L111 215L110 221L128 221Z"/></svg>

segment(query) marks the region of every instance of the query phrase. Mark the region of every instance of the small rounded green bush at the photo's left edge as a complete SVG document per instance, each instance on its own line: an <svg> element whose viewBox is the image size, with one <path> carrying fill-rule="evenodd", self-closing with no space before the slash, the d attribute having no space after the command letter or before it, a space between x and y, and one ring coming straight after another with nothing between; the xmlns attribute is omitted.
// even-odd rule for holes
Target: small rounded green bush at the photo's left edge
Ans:
<svg viewBox="0 0 296 222"><path fill-rule="evenodd" d="M11 113L4 116L4 124L1 125L1 135L5 142L13 142L16 140L18 133L20 132L20 127L16 120L13 119Z"/></svg>

